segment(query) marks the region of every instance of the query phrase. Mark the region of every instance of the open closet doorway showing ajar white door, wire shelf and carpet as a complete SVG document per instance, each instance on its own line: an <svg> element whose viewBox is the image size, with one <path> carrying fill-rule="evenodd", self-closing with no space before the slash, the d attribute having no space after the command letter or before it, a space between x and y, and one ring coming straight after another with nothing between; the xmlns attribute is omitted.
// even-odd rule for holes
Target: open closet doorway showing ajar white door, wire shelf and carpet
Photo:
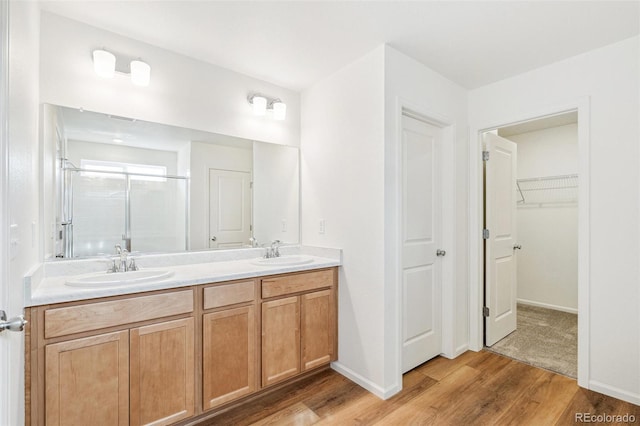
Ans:
<svg viewBox="0 0 640 426"><path fill-rule="evenodd" d="M493 159L493 152L488 155L484 174L485 345L572 378L578 329L577 119L577 112L568 112L488 132L485 149L496 152Z"/></svg>

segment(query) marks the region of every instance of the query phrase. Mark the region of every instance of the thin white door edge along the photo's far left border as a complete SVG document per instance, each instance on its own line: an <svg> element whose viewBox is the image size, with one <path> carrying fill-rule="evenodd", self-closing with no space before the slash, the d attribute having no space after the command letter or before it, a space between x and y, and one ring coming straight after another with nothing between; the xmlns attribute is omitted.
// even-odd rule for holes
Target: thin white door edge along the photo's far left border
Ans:
<svg viewBox="0 0 640 426"><path fill-rule="evenodd" d="M0 2L0 309L11 312L9 302L9 2ZM8 333L8 332L7 332ZM6 334L6 333L5 333ZM0 347L0 371L9 372L9 344ZM10 385L0 381L0 424L10 424ZM13 389L13 391L17 391Z"/></svg>

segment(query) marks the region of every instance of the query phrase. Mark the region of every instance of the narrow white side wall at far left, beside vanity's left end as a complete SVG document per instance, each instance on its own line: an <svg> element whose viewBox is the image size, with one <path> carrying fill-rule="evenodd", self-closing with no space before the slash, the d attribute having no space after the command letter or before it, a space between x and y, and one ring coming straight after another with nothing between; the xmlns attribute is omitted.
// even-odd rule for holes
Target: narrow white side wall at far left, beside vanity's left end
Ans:
<svg viewBox="0 0 640 426"><path fill-rule="evenodd" d="M38 158L38 26L35 2L9 4L9 221L11 235L7 314L24 307L23 277L39 259L39 158ZM15 243L15 244L14 244ZM11 348L3 372L8 377L7 424L24 423L24 333L5 332L3 346ZM7 365L10 368L7 369ZM4 387L4 386L3 386ZM5 417L6 416L6 417Z"/></svg>

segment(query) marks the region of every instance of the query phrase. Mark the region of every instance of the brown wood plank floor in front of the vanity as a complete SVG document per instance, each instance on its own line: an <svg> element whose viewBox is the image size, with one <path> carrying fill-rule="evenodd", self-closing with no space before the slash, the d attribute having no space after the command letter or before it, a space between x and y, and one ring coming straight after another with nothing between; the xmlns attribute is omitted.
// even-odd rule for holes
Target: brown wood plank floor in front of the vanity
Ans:
<svg viewBox="0 0 640 426"><path fill-rule="evenodd" d="M491 352L438 357L405 374L383 401L327 370L200 423L208 425L572 425L576 413L633 415L640 407ZM592 422L593 423L593 422ZM596 423L608 424L608 423Z"/></svg>

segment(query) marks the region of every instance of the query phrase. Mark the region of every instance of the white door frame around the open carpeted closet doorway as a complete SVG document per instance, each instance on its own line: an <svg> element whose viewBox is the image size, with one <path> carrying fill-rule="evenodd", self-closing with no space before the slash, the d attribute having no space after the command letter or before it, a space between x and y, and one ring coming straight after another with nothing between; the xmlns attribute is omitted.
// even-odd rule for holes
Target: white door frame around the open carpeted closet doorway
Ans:
<svg viewBox="0 0 640 426"><path fill-rule="evenodd" d="M469 144L469 343L470 349L483 348L484 264L482 224L483 176L482 133L489 130L566 112L578 112L578 385L589 384L589 272L590 272L590 99L578 98L563 105L504 117L493 123L470 128Z"/></svg>

